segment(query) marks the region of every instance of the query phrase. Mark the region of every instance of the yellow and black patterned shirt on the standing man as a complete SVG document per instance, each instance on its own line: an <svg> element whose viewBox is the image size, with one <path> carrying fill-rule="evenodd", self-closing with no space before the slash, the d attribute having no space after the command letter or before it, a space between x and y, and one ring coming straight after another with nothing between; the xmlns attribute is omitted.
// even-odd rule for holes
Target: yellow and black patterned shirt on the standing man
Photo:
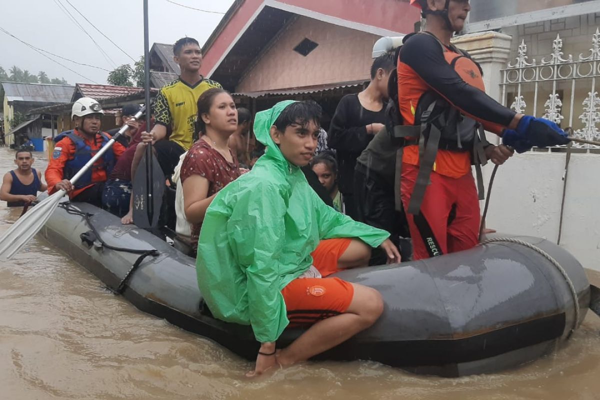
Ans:
<svg viewBox="0 0 600 400"><path fill-rule="evenodd" d="M181 79L163 86L154 104L154 119L157 124L170 127L173 133L169 140L188 151L194 143L198 98L205 91L221 88L218 82L202 79L190 86Z"/></svg>

